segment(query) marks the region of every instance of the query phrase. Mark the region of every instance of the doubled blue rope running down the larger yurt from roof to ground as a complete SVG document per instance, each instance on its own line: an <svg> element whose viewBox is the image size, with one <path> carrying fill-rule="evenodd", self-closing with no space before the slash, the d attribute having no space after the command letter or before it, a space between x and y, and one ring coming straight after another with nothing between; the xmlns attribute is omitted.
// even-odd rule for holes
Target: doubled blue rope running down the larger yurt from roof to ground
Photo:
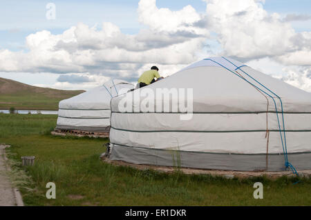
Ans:
<svg viewBox="0 0 311 220"><path fill-rule="evenodd" d="M225 57L223 57L223 59L225 59ZM217 61L214 61L212 59L204 59L204 60L209 60L209 61L212 61L214 63L217 63L219 66L225 68L226 70L229 70L229 68L226 68L225 66L221 65L220 63L218 63ZM225 59L227 60L227 59ZM231 61L227 60L229 63L232 63ZM232 63L234 66L236 66L234 63ZM242 66L241 66L242 67ZM236 66L236 68L241 68L241 67L238 67ZM229 70L230 72L232 72L233 74L235 74L237 77L240 77L241 79L243 79L244 81L247 81L247 83L251 84L252 86L254 86L255 88L257 88L258 90L261 90L261 88L258 88L257 86L255 86L253 83L251 83L250 81L248 81L247 79L241 77L239 74L236 74L235 72L233 72L232 70ZM243 70L242 70L243 71ZM243 71L244 72L244 71ZM246 72L244 72L245 74L247 74ZM249 76L249 74L247 74ZM249 76L251 77L251 76ZM251 77L252 78L252 77ZM252 78L254 79L254 78ZM256 79L254 79L256 81ZM258 81L257 81L258 82ZM259 82L258 82L259 83ZM259 83L261 86L263 86L263 84ZM265 86L263 86L264 88L266 88ZM269 90L268 88L266 88L267 90ZM265 94L267 94L269 97L272 98L272 100L274 101L274 108L276 110L276 118L277 118L277 121L278 121L278 126L279 126L279 132L280 132L280 136L281 136L281 143L282 143L282 148L283 148L283 152L284 152L284 157L285 157L285 167L288 168L290 167L294 173L297 174L296 172L296 169L294 169L294 166L292 166L291 163L288 162L288 155L287 155L287 149L285 150L284 148L284 143L283 143L283 136L282 136L282 132L281 132L281 125L280 125L280 121L279 121L279 112L278 112L278 109L277 109L277 106L276 106L276 101L274 100L274 97L272 97L270 94L268 94L267 92L261 90L261 92L264 92ZM270 90L270 92L272 92ZM272 92L273 94L275 94L274 92ZM276 94L275 94L276 95ZM281 101L281 98L276 95L276 97L278 97ZM281 106L282 106L282 116L283 116L283 103L281 102ZM283 130L284 130L284 133L285 133L285 123L284 123L284 117L283 117ZM285 142L286 143L286 142Z"/></svg>

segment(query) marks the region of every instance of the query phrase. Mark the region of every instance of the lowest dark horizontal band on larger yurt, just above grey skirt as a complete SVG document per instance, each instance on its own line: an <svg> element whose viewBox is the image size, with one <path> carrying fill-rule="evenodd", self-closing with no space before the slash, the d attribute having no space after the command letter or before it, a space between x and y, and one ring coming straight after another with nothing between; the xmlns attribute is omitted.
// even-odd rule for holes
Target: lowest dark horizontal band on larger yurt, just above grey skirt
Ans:
<svg viewBox="0 0 311 220"><path fill-rule="evenodd" d="M198 153L198 154L226 154L226 155L267 155L266 153L261 153L261 154L238 154L238 153L229 153L229 152L201 152L201 151L187 151L187 150L177 150L177 149L159 149L159 148L144 148L144 147L133 147L133 146L127 146L124 144L120 144L120 143L112 143L115 146L122 146L122 147L126 147L126 148L139 148L139 149L144 149L144 150L163 150L163 151L178 151L178 152L189 152L189 153ZM270 153L268 155L283 155L284 153ZM294 153L288 153L288 154L311 154L311 152L294 152Z"/></svg>

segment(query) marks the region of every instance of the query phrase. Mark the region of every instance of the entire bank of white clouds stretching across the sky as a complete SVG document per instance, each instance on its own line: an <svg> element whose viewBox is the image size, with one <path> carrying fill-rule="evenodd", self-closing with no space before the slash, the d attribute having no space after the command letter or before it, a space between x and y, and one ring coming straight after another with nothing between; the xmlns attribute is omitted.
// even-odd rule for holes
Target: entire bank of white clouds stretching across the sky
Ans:
<svg viewBox="0 0 311 220"><path fill-rule="evenodd" d="M110 78L135 81L153 65L167 76L202 57L218 55L210 54L214 51L308 89L301 83L308 82L305 69L296 66L311 66L311 32L295 32L289 22L305 16L269 14L264 0L203 1L206 14L192 6L172 11L158 8L156 0L140 0L138 20L144 28L138 34L124 34L109 22L99 27L77 23L62 34L35 32L26 37L28 51L0 50L0 71L54 72L64 74L54 88L88 88Z"/></svg>

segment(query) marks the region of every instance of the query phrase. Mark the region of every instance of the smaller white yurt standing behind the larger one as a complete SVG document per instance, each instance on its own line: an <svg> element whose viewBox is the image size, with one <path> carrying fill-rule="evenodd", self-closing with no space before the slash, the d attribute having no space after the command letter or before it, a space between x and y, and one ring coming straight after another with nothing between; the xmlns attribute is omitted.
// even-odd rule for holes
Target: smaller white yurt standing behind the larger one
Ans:
<svg viewBox="0 0 311 220"><path fill-rule="evenodd" d="M133 84L127 81L114 79L60 101L56 129L109 132L111 98L133 88Z"/></svg>

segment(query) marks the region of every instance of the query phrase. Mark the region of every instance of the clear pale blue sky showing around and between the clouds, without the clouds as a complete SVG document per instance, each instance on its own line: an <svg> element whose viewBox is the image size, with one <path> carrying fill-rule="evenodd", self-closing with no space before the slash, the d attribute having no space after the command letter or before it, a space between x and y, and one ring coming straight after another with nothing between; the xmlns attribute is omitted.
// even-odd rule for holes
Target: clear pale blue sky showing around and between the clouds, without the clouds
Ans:
<svg viewBox="0 0 311 220"><path fill-rule="evenodd" d="M57 14L55 20L46 19L46 4L49 2L55 3ZM111 22L120 28L124 34L138 34L140 30L146 28L146 24L138 21L138 2L139 0L1 0L0 50L29 52L29 48L26 48L26 37L30 34L35 34L42 30L48 30L52 34L62 34L64 30L68 30L71 26L77 26L79 22L89 27L100 26L102 22ZM191 5L199 14L206 13L207 3L201 0L156 1L158 8L169 8L171 11L182 10L187 5ZM266 0L263 3L263 9L270 14L276 12L281 17L286 17L288 14L308 17L311 14L311 1ZM311 19L290 21L290 25L296 33L311 31ZM213 51L223 49L218 39L211 38L205 42L209 44ZM270 66L279 66L274 61L268 64ZM269 66L268 64L267 66ZM256 63L254 65L256 66ZM175 69L173 68L173 70ZM283 72L283 70L281 71L280 68L279 72ZM55 72L41 74L39 72L1 72L0 69L0 77L7 77L32 85L53 86L57 82L59 75L55 74ZM79 87L77 86L77 88Z"/></svg>

